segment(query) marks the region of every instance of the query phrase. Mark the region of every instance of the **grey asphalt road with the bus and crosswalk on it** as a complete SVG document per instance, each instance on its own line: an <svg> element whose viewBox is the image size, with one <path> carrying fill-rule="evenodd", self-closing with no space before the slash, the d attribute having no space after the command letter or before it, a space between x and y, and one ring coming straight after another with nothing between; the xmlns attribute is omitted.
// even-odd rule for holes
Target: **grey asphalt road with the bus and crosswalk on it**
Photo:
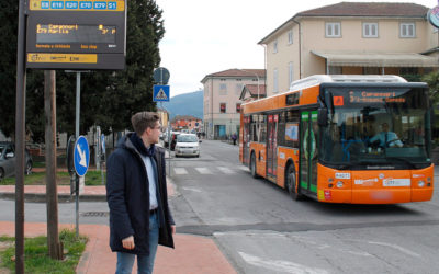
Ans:
<svg viewBox="0 0 439 274"><path fill-rule="evenodd" d="M178 232L214 239L238 273L438 273L439 187L427 203L295 202L252 179L238 146L211 140L200 158L172 158L169 170ZM0 207L11 208L0 220L13 221L13 202ZM58 210L60 222L75 224L75 203ZM81 224L108 224L105 203L81 203L80 213ZM45 204L26 204L25 218L45 221Z"/></svg>

